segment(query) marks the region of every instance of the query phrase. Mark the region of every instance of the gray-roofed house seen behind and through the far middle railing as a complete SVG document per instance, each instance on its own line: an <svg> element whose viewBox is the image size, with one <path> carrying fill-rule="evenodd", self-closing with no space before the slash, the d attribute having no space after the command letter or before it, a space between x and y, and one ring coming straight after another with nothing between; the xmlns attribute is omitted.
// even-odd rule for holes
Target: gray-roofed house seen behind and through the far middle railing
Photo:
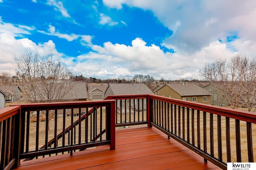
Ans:
<svg viewBox="0 0 256 170"><path fill-rule="evenodd" d="M145 84L143 83L120 83L120 84L109 84L105 91L105 97L107 96L117 96L117 95L136 95L136 94L154 94ZM146 109L147 101L146 99L132 99L130 100L118 100L117 101L117 111L120 112L122 108L122 113L124 113L124 106L126 102L126 109L130 106L136 108L136 110ZM139 107L139 108L138 108Z"/></svg>

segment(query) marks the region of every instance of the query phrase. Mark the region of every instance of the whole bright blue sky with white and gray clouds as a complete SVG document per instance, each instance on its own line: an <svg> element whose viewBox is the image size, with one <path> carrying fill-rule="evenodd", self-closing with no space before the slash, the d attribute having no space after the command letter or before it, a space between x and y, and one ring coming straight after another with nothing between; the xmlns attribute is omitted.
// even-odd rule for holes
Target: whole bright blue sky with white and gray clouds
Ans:
<svg viewBox="0 0 256 170"><path fill-rule="evenodd" d="M74 75L201 79L206 62L256 54L256 1L0 0L0 74L31 48Z"/></svg>

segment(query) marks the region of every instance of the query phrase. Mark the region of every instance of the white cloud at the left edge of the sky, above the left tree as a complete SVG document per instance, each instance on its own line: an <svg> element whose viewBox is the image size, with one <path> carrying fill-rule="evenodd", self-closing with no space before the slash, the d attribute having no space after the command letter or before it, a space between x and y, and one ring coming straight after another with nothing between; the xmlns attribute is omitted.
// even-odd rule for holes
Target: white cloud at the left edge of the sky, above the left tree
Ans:
<svg viewBox="0 0 256 170"><path fill-rule="evenodd" d="M0 73L10 72L10 75L15 75L17 67L14 57L19 57L24 48L38 51L40 55L54 55L58 59L63 55L58 53L51 40L37 45L28 38L20 38L32 30L34 27L4 23L0 18Z"/></svg>

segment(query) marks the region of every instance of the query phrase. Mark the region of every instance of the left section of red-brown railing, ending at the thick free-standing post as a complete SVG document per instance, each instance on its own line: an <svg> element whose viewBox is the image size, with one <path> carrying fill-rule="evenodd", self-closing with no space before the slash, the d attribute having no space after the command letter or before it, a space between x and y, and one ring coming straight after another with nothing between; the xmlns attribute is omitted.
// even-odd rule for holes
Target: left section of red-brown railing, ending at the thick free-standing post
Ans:
<svg viewBox="0 0 256 170"><path fill-rule="evenodd" d="M19 104L1 109L0 169L17 167L22 159L72 155L100 145L115 149L114 109L114 100Z"/></svg>

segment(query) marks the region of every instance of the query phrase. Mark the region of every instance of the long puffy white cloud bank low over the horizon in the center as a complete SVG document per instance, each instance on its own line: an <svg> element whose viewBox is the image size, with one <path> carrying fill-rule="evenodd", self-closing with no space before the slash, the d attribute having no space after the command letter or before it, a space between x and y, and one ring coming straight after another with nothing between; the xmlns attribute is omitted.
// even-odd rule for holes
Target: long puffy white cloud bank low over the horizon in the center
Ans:
<svg viewBox="0 0 256 170"><path fill-rule="evenodd" d="M199 70L205 61L215 61L222 57L231 57L236 53L228 51L219 41L193 54L164 53L160 47L140 38L132 41L132 46L104 43L103 47L93 45L95 52L76 57L77 64L68 59L70 70L75 75L96 76L98 78L133 77L135 74L150 74L154 78L200 78ZM179 51L179 49L178 49Z"/></svg>

